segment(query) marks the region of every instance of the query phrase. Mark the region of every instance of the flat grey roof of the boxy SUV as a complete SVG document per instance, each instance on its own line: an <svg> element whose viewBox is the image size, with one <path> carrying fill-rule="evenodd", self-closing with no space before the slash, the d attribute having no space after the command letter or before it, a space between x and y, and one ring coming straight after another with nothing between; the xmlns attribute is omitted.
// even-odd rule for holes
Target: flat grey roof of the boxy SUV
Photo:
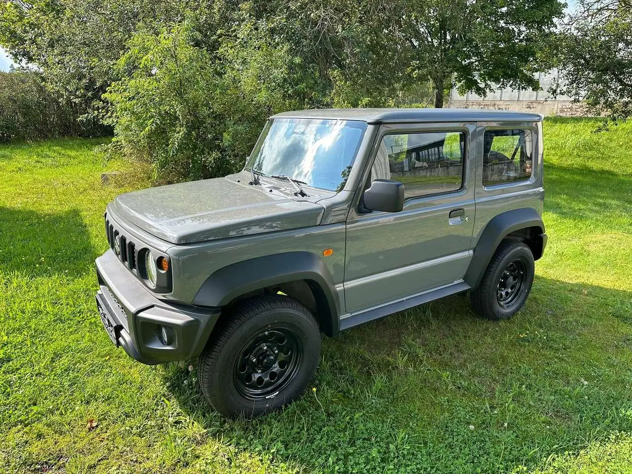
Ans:
<svg viewBox="0 0 632 474"><path fill-rule="evenodd" d="M466 122L528 121L539 122L542 115L489 109L310 109L281 112L270 118L320 118L388 122Z"/></svg>

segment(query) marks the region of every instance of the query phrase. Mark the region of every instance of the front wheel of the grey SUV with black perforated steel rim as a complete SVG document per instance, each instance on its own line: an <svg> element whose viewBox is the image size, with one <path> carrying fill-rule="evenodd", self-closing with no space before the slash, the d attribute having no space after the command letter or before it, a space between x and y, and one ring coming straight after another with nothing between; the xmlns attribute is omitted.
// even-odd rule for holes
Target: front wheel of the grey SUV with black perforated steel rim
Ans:
<svg viewBox="0 0 632 474"><path fill-rule="evenodd" d="M289 296L241 303L212 337L198 358L198 380L205 398L228 418L253 418L291 403L320 358L319 326Z"/></svg>

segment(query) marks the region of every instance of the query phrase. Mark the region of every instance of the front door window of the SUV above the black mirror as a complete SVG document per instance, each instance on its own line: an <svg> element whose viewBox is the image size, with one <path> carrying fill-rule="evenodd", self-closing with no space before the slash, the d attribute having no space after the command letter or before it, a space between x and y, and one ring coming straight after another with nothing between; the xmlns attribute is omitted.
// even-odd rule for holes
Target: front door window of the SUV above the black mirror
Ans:
<svg viewBox="0 0 632 474"><path fill-rule="evenodd" d="M382 138L371 179L404 183L404 198L458 191L463 185L465 133L402 133Z"/></svg>

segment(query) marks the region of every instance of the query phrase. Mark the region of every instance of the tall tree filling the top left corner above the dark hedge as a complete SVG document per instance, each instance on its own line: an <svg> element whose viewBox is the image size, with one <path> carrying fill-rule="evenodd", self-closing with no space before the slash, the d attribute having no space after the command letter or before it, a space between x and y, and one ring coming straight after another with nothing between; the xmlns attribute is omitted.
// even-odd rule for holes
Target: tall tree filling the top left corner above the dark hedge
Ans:
<svg viewBox="0 0 632 474"><path fill-rule="evenodd" d="M7 0L0 44L15 61L37 66L47 87L83 110L118 78L116 61L139 23L154 29L182 18L186 6L155 0Z"/></svg>

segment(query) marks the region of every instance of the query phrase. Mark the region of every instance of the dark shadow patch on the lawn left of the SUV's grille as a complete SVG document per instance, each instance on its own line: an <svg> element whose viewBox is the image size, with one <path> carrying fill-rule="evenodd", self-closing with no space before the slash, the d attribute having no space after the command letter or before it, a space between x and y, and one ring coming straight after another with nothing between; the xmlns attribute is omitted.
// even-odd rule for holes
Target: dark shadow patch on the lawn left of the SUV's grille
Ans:
<svg viewBox="0 0 632 474"><path fill-rule="evenodd" d="M0 269L28 277L78 276L96 251L78 210L44 214L0 207Z"/></svg>

